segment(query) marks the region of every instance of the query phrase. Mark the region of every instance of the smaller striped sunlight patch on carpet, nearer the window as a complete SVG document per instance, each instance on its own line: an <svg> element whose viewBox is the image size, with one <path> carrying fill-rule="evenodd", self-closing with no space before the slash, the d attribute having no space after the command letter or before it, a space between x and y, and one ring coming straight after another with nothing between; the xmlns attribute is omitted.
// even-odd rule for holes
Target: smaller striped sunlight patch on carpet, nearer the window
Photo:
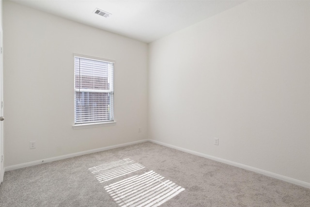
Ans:
<svg viewBox="0 0 310 207"><path fill-rule="evenodd" d="M135 163L134 160L127 158L115 162L101 164L89 168L89 170L93 173L97 180L102 183L116 177L127 175L143 168L143 165Z"/></svg>

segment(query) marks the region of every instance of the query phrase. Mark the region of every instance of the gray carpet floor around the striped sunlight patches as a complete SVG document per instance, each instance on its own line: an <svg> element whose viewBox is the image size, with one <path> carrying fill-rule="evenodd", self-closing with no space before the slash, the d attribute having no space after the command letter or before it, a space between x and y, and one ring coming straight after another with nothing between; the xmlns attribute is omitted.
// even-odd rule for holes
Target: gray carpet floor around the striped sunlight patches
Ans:
<svg viewBox="0 0 310 207"><path fill-rule="evenodd" d="M107 181L100 181L89 170L123 159L144 168ZM126 201L113 200L123 194L107 190L146 172L184 189L161 200L160 207L310 207L310 189L150 142L5 172L0 206L126 206Z"/></svg>

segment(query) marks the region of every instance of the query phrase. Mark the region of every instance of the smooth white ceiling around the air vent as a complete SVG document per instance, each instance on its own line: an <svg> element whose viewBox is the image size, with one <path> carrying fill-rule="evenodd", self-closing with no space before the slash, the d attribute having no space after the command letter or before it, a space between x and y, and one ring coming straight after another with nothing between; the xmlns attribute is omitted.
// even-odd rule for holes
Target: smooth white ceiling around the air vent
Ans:
<svg viewBox="0 0 310 207"><path fill-rule="evenodd" d="M244 0L12 0L56 16L150 43ZM112 15L93 13L99 8Z"/></svg>

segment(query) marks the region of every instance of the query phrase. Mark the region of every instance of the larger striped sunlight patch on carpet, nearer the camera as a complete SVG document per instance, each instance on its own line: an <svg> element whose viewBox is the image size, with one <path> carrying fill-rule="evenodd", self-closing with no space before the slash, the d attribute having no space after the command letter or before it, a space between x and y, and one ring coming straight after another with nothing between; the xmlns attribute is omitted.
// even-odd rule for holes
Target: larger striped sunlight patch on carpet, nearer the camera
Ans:
<svg viewBox="0 0 310 207"><path fill-rule="evenodd" d="M158 207L185 190L154 171L129 177L105 189L120 207Z"/></svg>

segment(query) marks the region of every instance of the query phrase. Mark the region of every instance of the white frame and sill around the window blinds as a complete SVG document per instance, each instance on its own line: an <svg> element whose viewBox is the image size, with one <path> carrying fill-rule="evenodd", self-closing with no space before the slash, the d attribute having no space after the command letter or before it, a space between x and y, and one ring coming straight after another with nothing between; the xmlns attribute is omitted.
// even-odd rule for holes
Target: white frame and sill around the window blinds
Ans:
<svg viewBox="0 0 310 207"><path fill-rule="evenodd" d="M114 85L114 70L115 70L115 61L112 60L107 60L107 59L102 59L102 58L96 58L96 57L91 57L91 56L86 56L86 55L79 55L79 54L73 54L74 56L74 63L76 58L82 58L82 59L88 59L88 60L94 60L94 61L100 61L100 62L106 62L113 64L113 85ZM75 68L74 68L75 70ZM79 91L79 89L76 88L76 72L74 72L74 124L73 124L73 129L80 129L80 128L90 128L90 127L106 127L106 126L113 126L116 124L116 121L114 119L114 86L113 90L109 90L107 92L110 92L113 94L113 100L112 100L112 111L111 111L111 118L112 120L105 121L105 122L91 122L91 123L76 123L76 92ZM83 89L84 92L96 92L95 89Z"/></svg>

